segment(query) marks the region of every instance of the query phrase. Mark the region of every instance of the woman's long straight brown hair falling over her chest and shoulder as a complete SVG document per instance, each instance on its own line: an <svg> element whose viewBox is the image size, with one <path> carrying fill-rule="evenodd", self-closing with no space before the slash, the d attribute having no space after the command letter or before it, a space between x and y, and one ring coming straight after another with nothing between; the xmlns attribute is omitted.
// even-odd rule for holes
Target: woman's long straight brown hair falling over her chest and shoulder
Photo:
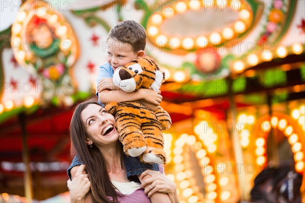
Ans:
<svg viewBox="0 0 305 203"><path fill-rule="evenodd" d="M73 113L70 124L71 155L78 154L86 166L94 202L117 202L118 194L110 181L103 155L96 146L90 148L86 144L87 134L81 112L90 104L101 106L97 101L88 100L79 104Z"/></svg>

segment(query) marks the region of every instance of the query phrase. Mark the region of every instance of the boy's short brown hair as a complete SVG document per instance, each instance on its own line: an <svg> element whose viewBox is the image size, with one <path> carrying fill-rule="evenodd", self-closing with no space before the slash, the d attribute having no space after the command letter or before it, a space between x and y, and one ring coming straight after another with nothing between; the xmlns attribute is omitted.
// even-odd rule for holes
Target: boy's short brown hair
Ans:
<svg viewBox="0 0 305 203"><path fill-rule="evenodd" d="M145 49L146 30L134 20L124 20L110 29L108 33L109 38L130 44L133 49L132 51L137 53Z"/></svg>

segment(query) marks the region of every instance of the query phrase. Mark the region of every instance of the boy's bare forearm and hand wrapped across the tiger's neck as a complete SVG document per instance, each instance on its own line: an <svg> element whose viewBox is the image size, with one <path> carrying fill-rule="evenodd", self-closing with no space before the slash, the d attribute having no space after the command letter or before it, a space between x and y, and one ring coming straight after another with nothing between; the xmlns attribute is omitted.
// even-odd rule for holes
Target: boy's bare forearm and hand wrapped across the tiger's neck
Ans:
<svg viewBox="0 0 305 203"><path fill-rule="evenodd" d="M139 89L135 92L125 92L123 90L103 90L99 93L99 99L103 104L122 101L144 101L142 104L150 103L151 107L159 106L162 96L152 89ZM148 107L149 108L149 107Z"/></svg>

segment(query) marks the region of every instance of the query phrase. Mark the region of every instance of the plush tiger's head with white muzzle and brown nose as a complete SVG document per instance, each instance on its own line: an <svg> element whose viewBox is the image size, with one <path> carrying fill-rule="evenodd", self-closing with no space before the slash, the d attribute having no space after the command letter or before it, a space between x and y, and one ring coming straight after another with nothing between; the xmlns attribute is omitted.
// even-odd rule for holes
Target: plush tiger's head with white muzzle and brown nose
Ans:
<svg viewBox="0 0 305 203"><path fill-rule="evenodd" d="M126 92L140 88L158 91L164 79L158 64L148 56L136 58L118 67L113 74L113 83Z"/></svg>

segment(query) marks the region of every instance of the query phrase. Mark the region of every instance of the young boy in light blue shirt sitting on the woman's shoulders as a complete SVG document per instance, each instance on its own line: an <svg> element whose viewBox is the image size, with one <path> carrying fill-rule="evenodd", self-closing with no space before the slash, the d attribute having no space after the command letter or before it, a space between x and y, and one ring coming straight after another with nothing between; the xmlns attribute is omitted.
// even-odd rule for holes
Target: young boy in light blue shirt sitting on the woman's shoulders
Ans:
<svg viewBox="0 0 305 203"><path fill-rule="evenodd" d="M151 89L140 89L137 92L125 92L113 85L112 77L117 67L126 65L137 57L144 55L146 45L146 31L142 25L133 20L126 20L117 23L111 28L108 34L107 43L107 63L99 67L97 77L97 91L99 101L102 104L115 101L137 100L151 110L157 110L162 101L162 96ZM75 159L75 158L74 158ZM68 168L68 175L74 165L79 165L79 160L74 160ZM151 176L146 175L143 179L140 175L146 170L159 171L159 165L144 164L137 157L125 157L125 168L127 177L131 181L139 180L143 182ZM143 176L142 176L143 177ZM149 186L148 186L149 187ZM152 189L152 188L150 188ZM156 192L150 196L151 202L170 202L169 196L166 193Z"/></svg>

